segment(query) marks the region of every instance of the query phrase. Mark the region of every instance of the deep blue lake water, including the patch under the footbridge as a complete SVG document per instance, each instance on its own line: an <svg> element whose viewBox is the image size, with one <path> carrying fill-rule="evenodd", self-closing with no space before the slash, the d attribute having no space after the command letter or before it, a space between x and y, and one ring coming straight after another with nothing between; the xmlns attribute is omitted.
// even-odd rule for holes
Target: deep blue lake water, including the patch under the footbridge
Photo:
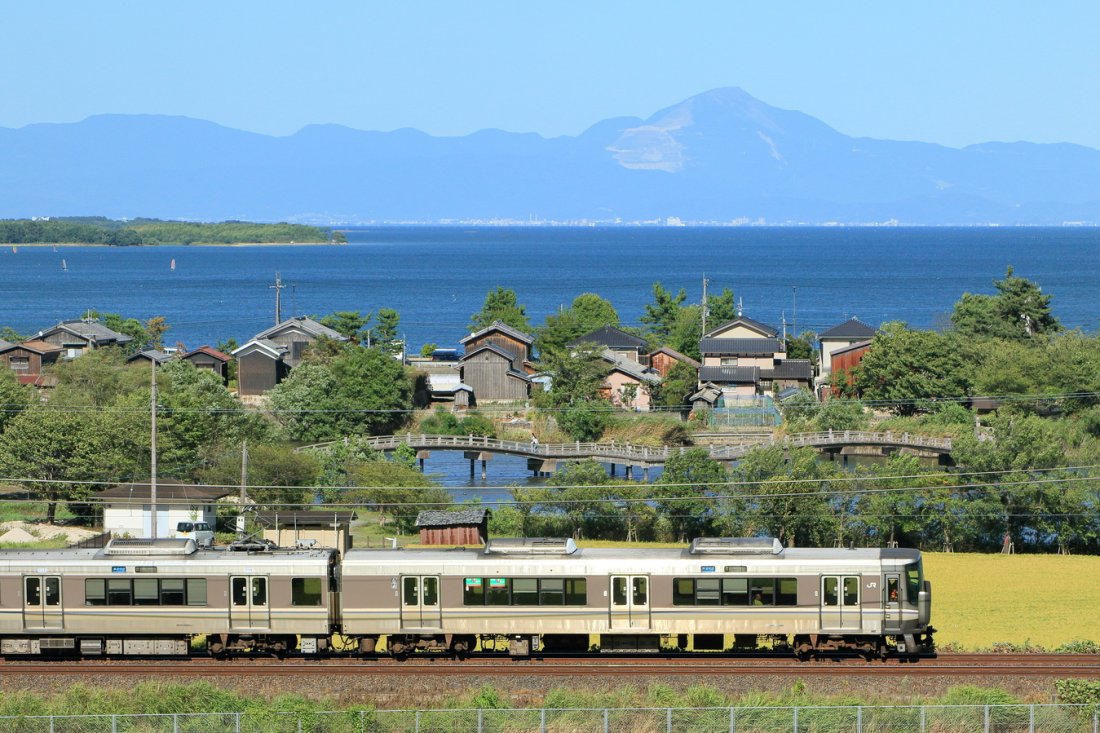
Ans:
<svg viewBox="0 0 1100 733"><path fill-rule="evenodd" d="M1012 265L1054 296L1063 324L1100 329L1100 229L1091 228L360 228L331 247L20 247L0 250L0 326L32 333L88 309L167 318L167 344L243 343L283 315L395 308L413 351L458 347L470 315L502 285L534 325L579 294L638 325L651 286L698 302L730 287L746 316L821 331L850 316L879 325L946 322L964 292L992 292ZM62 269L62 262L66 269ZM170 269L175 261L175 270ZM429 471L465 482L461 455ZM515 463L515 466L513 466ZM487 483L524 481L494 459ZM480 467L479 467L480 477ZM474 483L480 481L475 480Z"/></svg>

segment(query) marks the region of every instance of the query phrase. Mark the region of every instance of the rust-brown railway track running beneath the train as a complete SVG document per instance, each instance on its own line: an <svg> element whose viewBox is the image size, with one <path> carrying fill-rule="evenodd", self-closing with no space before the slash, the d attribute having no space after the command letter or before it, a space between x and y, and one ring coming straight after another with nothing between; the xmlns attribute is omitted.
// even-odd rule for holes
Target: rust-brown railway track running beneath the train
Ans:
<svg viewBox="0 0 1100 733"><path fill-rule="evenodd" d="M873 677L1100 677L1100 655L1069 654L948 654L920 661L887 659L865 661L856 657L796 661L779 658L707 657L544 657L512 659L471 657L457 661L446 657L388 657L351 659L277 660L240 658L215 661L206 658L147 660L0 661L0 678L19 676L107 675L142 677L285 677L310 676L536 676L536 677L654 677L683 675L732 676L873 676Z"/></svg>

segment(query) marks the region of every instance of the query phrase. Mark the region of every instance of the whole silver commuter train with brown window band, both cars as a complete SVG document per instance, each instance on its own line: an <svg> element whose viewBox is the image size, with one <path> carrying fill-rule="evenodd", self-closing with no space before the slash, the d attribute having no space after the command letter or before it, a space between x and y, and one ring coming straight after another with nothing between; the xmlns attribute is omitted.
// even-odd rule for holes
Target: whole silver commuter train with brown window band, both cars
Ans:
<svg viewBox="0 0 1100 733"><path fill-rule="evenodd" d="M239 652L464 655L681 648L933 648L914 549L783 548L700 538L685 549L200 550L193 540L0 551L0 655Z"/></svg>

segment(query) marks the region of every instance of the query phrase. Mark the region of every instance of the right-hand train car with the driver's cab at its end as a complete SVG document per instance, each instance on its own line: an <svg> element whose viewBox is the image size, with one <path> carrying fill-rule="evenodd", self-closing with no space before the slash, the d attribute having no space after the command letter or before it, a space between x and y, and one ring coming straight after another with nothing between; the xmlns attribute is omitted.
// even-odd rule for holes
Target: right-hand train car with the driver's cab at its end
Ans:
<svg viewBox="0 0 1100 733"><path fill-rule="evenodd" d="M932 650L931 590L909 549L492 539L483 551L351 550L341 572L343 633L364 653Z"/></svg>

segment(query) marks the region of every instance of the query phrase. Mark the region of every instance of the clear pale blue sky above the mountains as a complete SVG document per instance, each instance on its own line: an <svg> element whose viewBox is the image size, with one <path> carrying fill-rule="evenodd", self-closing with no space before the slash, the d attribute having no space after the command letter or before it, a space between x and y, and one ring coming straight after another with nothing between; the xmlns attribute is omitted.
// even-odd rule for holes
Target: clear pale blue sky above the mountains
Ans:
<svg viewBox="0 0 1100 733"><path fill-rule="evenodd" d="M576 134L715 87L854 135L1100 147L1100 3L3 0L0 127Z"/></svg>

